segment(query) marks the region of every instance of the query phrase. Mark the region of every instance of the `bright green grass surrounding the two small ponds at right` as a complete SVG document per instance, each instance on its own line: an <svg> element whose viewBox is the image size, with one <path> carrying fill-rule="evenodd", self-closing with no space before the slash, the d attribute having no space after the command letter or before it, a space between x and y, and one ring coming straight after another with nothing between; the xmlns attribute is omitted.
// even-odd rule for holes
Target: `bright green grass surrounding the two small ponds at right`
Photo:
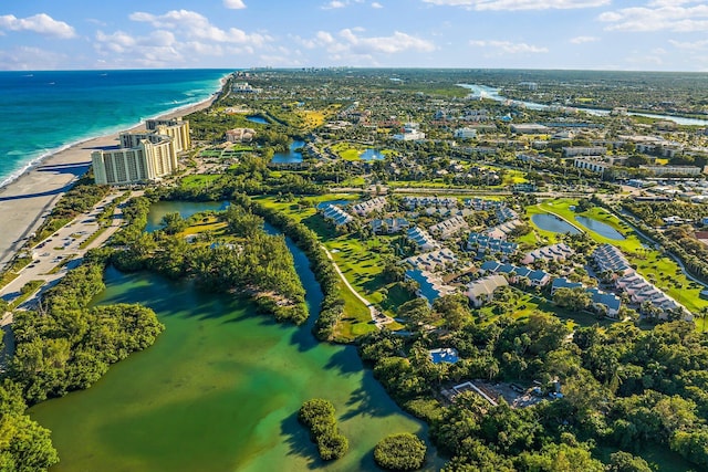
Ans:
<svg viewBox="0 0 708 472"><path fill-rule="evenodd" d="M622 250L629 263L636 265L639 274L642 274L647 281L654 283L659 290L664 291L670 297L686 306L688 311L695 313L701 307L708 306L708 301L699 297L699 293L702 289L701 285L687 279L678 264L663 251L650 249L648 245L644 244L642 239L626 222L603 208L593 208L582 213L575 213L570 209L570 207L576 203L576 200L568 198L548 200L540 203L538 207L529 207L527 209L527 214L532 216L535 213L550 212L564 218L576 227L585 230L594 241L617 247ZM590 231L575 220L576 216L592 218L608 224L622 233L625 239L610 239L594 231ZM543 231L538 228L535 229L541 237L546 238L549 241L560 239L560 235L555 233Z"/></svg>

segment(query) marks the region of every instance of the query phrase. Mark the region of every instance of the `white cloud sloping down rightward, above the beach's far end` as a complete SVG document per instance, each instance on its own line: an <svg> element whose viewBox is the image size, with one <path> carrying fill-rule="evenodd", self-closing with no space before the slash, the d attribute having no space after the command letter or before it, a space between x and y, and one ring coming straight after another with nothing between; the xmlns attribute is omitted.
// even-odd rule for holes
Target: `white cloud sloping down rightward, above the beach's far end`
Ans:
<svg viewBox="0 0 708 472"><path fill-rule="evenodd" d="M209 22L209 19L200 13L189 10L171 10L165 14L152 14L135 12L129 15L133 21L146 22L158 29L175 30L187 38L216 41L220 43L262 45L272 39L260 33L247 33L238 28L222 30Z"/></svg>

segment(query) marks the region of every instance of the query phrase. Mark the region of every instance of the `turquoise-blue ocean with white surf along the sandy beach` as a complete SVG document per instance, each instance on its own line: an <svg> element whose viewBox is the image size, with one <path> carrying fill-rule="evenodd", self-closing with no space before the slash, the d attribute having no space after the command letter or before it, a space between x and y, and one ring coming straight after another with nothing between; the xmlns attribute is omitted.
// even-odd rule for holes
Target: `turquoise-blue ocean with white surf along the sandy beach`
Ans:
<svg viewBox="0 0 708 472"><path fill-rule="evenodd" d="M0 72L0 187L73 144L201 102L230 72Z"/></svg>

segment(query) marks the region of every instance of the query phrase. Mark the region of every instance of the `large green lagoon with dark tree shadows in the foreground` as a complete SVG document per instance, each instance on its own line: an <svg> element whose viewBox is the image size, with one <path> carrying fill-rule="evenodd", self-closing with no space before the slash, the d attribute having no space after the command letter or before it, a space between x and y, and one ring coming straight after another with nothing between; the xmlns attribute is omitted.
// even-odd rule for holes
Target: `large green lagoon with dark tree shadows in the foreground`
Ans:
<svg viewBox="0 0 708 472"><path fill-rule="evenodd" d="M174 203L167 207L175 211ZM314 314L322 293L304 254L289 245ZM52 430L61 458L52 471L366 471L377 470L372 450L385 436L426 436L425 424L388 398L354 347L314 339L312 317L302 327L283 326L243 301L189 282L114 269L105 279L95 303L143 303L166 329L90 389L30 410ZM334 403L350 439L339 461L320 461L295 419L313 397ZM431 449L429 455L429 470L437 469Z"/></svg>

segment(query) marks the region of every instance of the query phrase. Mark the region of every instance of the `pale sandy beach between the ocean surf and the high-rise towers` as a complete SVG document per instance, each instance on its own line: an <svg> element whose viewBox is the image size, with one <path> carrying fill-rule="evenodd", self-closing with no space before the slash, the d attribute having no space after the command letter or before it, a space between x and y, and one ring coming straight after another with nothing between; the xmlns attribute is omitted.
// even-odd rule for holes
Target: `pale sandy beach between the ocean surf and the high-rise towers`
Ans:
<svg viewBox="0 0 708 472"><path fill-rule="evenodd" d="M208 98L152 118L173 118L208 108L225 84L226 77L220 81L219 90ZM91 151L115 146L121 133L143 129L145 119L125 129L63 146L35 159L22 174L0 187L0 270L22 249L24 239L37 231L61 196L86 174L91 167Z"/></svg>

